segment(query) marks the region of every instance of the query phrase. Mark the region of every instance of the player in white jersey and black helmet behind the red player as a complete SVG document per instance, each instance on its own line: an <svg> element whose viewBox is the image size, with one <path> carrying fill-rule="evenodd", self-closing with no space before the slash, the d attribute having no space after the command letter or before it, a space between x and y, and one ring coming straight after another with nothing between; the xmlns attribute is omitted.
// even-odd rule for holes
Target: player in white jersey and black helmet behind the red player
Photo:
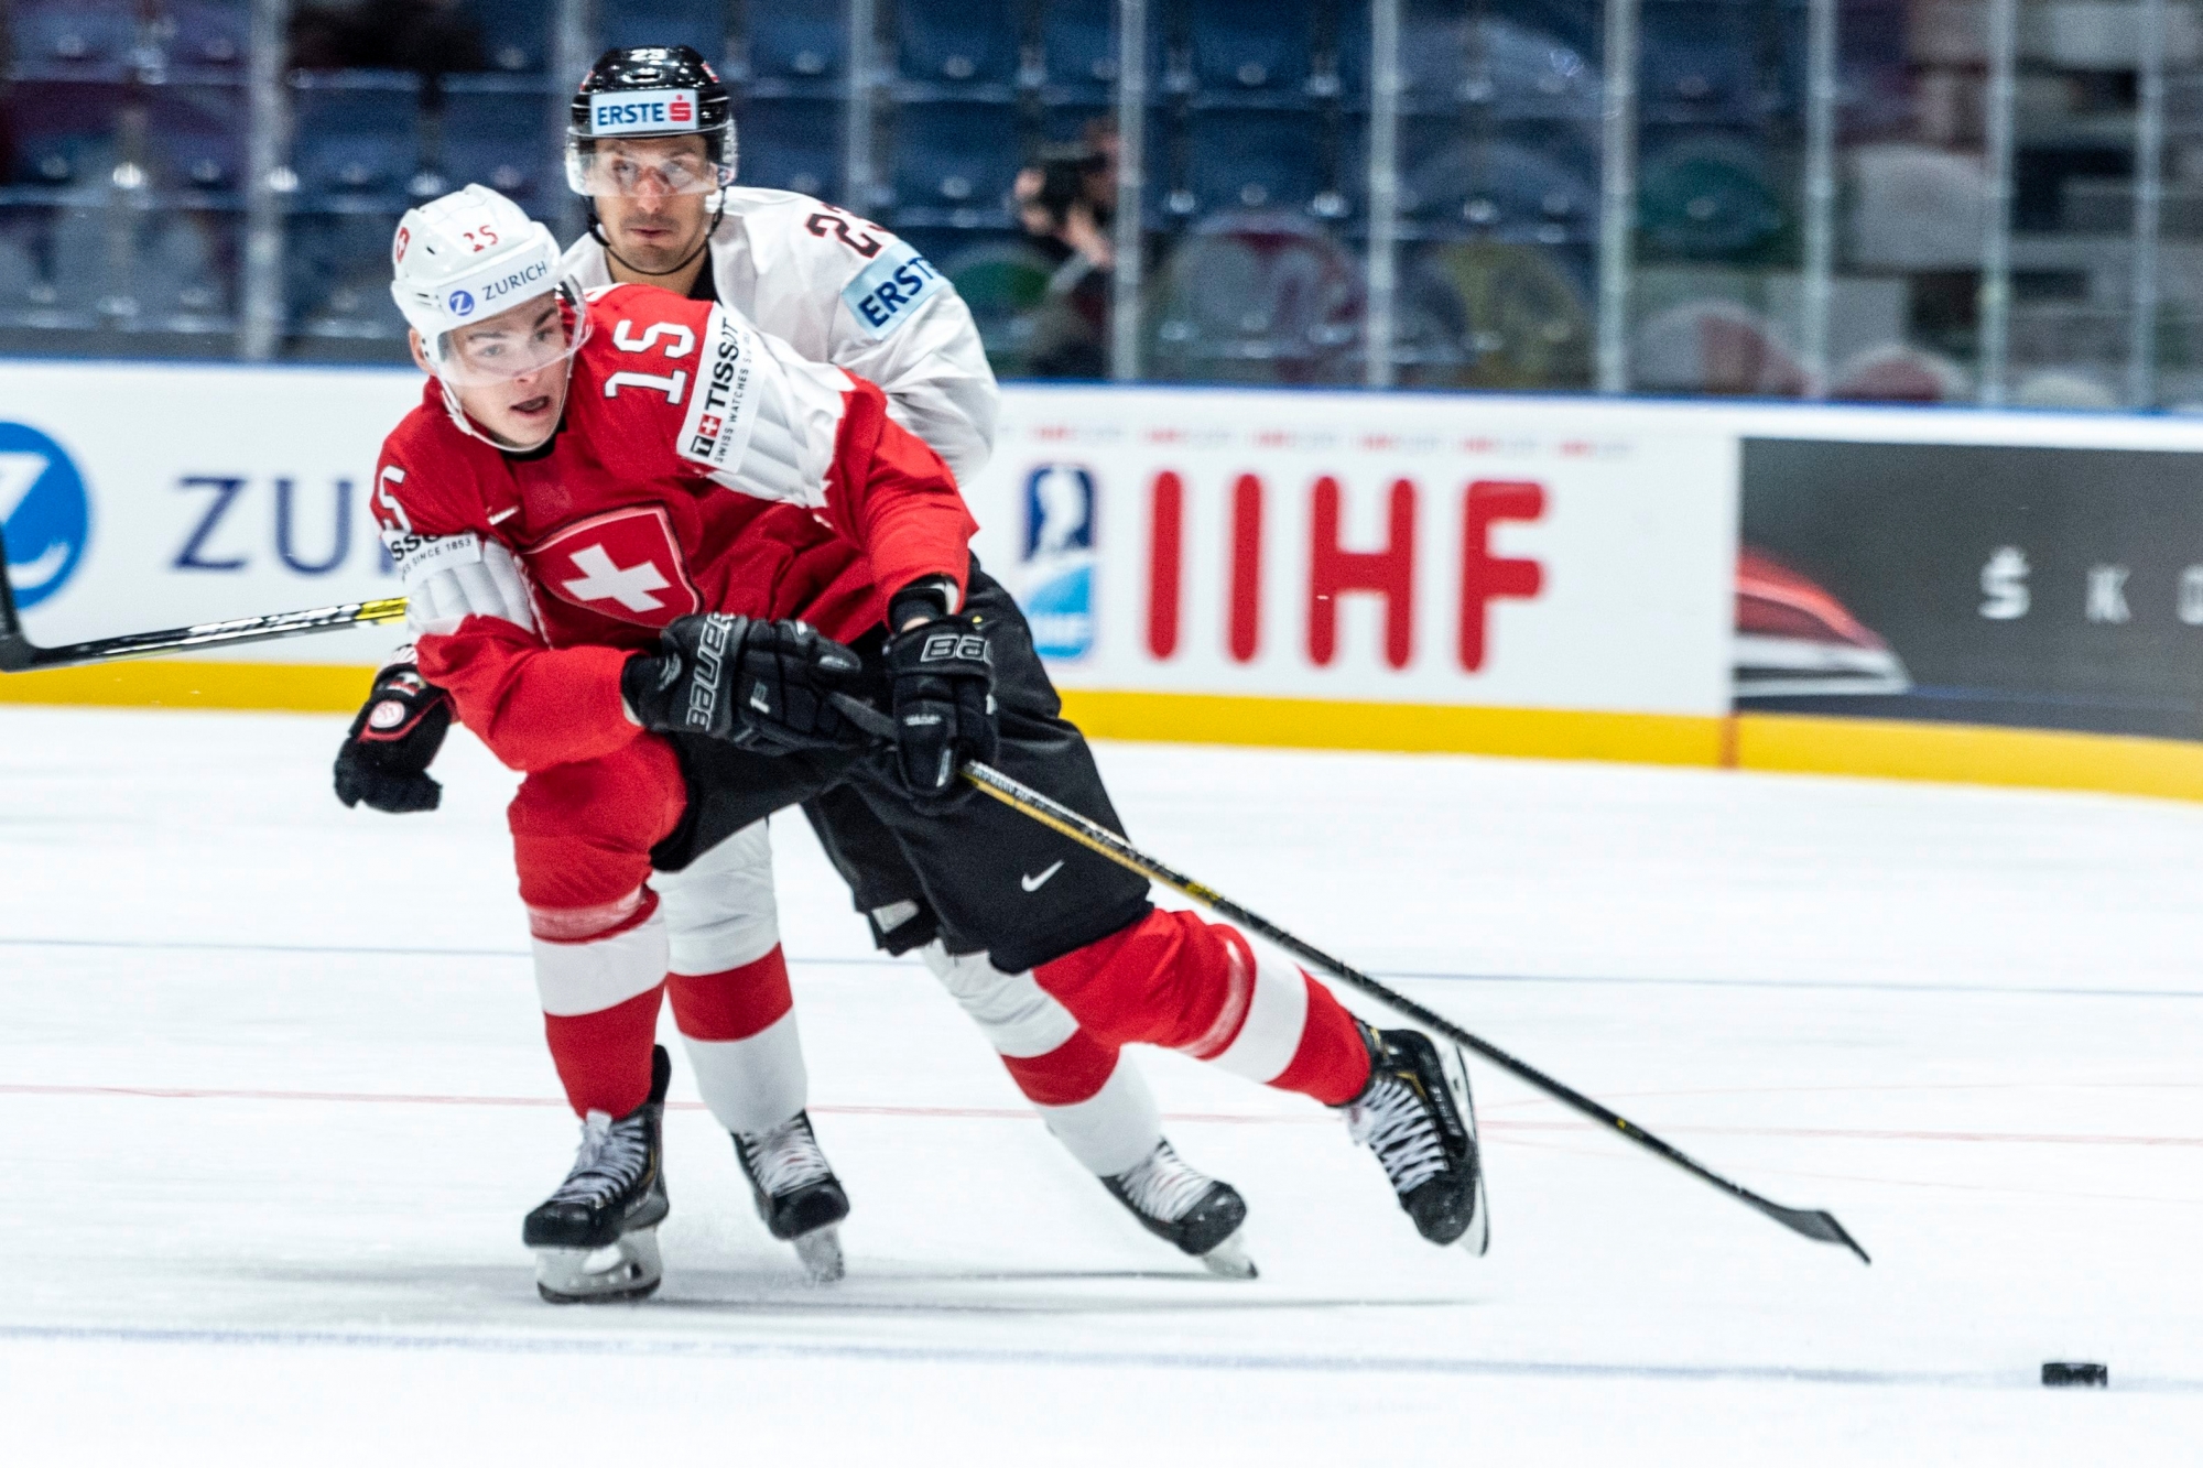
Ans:
<svg viewBox="0 0 2203 1468"><path fill-rule="evenodd" d="M969 309L923 256L877 225L804 194L736 187L727 93L703 57L685 46L606 53L575 95L568 141L568 183L590 198L590 231L562 260L577 284L619 280L723 300L800 355L879 384L890 417L961 481L985 465L998 390ZM386 668L339 756L339 796L379 809L432 807L425 769L447 723L441 694L408 659ZM1029 974L1005 974L987 954L947 954L916 902L866 904L877 888L870 864L892 860L892 842L870 844L861 829L853 840L850 811L842 811L842 840L811 816L881 946L919 950L1073 1157L1150 1232L1220 1274L1251 1274L1238 1248L1245 1203L1176 1157L1130 1060L1097 1076L1093 1040ZM683 1043L705 1102L734 1135L760 1217L815 1276L833 1278L848 1199L804 1113L793 1007L773 999L786 992L786 970L764 824L652 886L674 974L758 972L762 999L751 1014L716 1034L683 1032ZM586 1021L555 1003L544 996L551 1023ZM577 1263L546 1259L560 1281L546 1294L632 1296L656 1283L654 1256L645 1270L628 1261L599 1274Z"/></svg>

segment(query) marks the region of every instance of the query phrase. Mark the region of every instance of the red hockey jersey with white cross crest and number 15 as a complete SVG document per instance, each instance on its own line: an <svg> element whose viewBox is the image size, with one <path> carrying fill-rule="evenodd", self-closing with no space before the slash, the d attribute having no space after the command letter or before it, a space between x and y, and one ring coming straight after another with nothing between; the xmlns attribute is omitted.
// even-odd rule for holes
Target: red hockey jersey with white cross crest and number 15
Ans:
<svg viewBox="0 0 2203 1468"><path fill-rule="evenodd" d="M507 765L634 738L619 670L676 617L802 617L846 641L910 582L963 586L976 525L879 388L652 287L593 291L590 326L542 450L463 432L432 381L377 465L421 672Z"/></svg>

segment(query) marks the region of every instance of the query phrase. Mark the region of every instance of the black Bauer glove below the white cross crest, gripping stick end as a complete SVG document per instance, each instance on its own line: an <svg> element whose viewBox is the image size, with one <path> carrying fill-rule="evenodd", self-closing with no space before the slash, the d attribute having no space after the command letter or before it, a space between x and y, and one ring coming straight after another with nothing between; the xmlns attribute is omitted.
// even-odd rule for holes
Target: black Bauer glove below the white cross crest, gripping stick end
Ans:
<svg viewBox="0 0 2203 1468"><path fill-rule="evenodd" d="M861 745L864 734L826 699L861 688L864 666L833 637L731 613L681 617L661 633L659 652L637 652L619 674L645 730L758 754Z"/></svg>

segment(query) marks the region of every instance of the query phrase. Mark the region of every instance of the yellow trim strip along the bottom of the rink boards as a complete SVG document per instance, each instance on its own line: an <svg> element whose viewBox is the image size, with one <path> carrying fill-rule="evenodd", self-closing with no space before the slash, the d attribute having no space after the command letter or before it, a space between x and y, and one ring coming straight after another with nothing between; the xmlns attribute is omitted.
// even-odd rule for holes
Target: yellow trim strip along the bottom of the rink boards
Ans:
<svg viewBox="0 0 2203 1468"><path fill-rule="evenodd" d="M348 714L372 668L143 659L0 674L0 703ZM2203 800L2203 743L1804 714L1599 714L1066 688L1095 738L1408 754L1507 754L2025 785Z"/></svg>

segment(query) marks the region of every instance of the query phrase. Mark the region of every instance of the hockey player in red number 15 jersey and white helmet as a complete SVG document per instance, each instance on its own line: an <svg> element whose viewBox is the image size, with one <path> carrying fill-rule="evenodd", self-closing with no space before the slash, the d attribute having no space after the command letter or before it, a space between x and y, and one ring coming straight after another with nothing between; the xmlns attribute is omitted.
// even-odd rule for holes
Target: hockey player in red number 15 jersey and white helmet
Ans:
<svg viewBox="0 0 2203 1468"><path fill-rule="evenodd" d="M683 1034L749 1003L718 974L668 981L661 888L831 789L894 833L947 950L1029 979L1097 1067L1165 1045L1339 1107L1417 1228L1478 1248L1456 1056L1361 1025L1231 928L1157 910L1143 879L958 794L956 765L985 758L1117 824L1016 604L969 555L952 476L879 390L727 306L584 300L513 216L476 185L399 229L394 293L434 381L386 441L375 514L423 677L527 771L520 897L584 1115L573 1173L529 1215L544 1292L656 1285L659 1001ZM868 747L833 692L886 699L897 741ZM617 1263L595 1267L604 1248Z"/></svg>

